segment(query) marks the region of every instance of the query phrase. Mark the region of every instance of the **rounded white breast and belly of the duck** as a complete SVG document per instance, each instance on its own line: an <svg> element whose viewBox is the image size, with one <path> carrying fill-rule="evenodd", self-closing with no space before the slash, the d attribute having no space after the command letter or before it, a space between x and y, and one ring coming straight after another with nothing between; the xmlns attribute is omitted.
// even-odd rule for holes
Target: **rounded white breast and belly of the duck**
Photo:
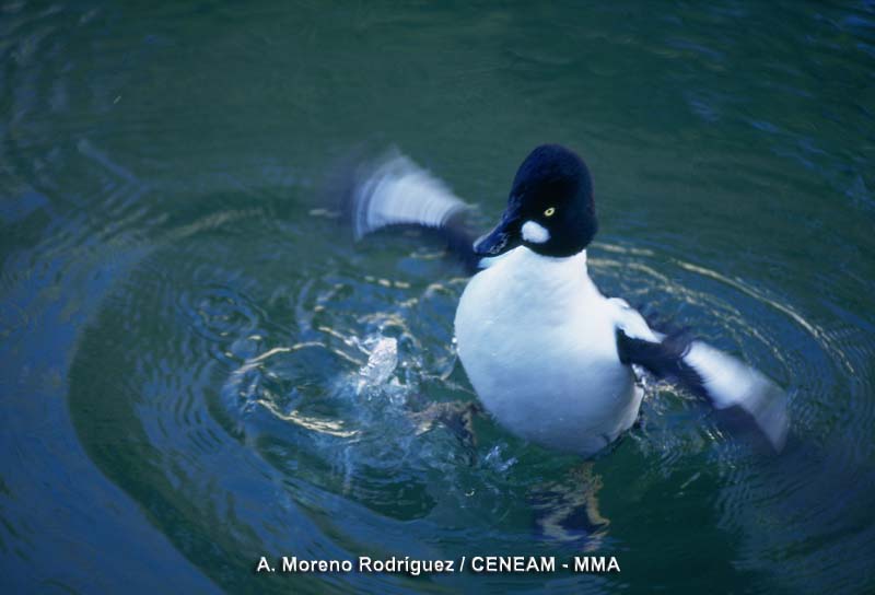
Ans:
<svg viewBox="0 0 875 595"><path fill-rule="evenodd" d="M617 355L617 306L586 253L520 247L476 275L456 312L458 354L483 406L510 431L593 454L629 428L641 392Z"/></svg>

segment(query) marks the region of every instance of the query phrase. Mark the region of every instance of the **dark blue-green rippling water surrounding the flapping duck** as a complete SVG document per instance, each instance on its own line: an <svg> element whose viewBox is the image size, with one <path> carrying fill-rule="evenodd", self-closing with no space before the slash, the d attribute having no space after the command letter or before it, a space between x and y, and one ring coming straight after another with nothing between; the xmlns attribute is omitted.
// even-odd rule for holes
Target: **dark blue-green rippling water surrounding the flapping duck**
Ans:
<svg viewBox="0 0 875 595"><path fill-rule="evenodd" d="M709 4L3 3L3 592L872 593L874 7ZM603 290L786 388L781 457L662 385L591 467L430 418L465 279L319 182L395 144L486 228L545 141ZM621 573L254 573L587 550Z"/></svg>

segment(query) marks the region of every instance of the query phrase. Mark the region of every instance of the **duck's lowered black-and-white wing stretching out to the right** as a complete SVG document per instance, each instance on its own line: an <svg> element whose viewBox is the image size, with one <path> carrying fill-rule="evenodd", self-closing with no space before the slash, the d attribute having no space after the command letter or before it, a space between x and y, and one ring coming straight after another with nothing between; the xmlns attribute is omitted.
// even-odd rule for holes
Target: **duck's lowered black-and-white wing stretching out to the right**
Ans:
<svg viewBox="0 0 875 595"><path fill-rule="evenodd" d="M621 302L621 301L619 301ZM625 303L618 308L617 354L660 378L677 382L703 397L733 423L758 430L777 451L786 441L786 394L732 355L686 332L663 335Z"/></svg>

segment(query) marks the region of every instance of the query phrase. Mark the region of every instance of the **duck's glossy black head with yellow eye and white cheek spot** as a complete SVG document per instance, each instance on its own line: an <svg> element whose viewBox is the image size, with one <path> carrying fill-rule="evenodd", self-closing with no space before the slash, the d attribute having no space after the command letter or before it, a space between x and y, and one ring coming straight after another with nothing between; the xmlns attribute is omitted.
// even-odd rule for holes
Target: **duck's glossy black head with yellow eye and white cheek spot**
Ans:
<svg viewBox="0 0 875 595"><path fill-rule="evenodd" d="M474 250L498 256L523 245L544 256L573 256L597 230L586 164L564 147L542 144L520 165L501 222Z"/></svg>

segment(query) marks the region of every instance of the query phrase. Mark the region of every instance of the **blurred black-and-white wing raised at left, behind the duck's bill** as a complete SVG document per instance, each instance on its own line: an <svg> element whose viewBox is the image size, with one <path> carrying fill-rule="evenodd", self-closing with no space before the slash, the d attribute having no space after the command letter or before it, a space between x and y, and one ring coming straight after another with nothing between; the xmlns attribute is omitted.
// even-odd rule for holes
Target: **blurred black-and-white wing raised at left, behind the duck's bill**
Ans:
<svg viewBox="0 0 875 595"><path fill-rule="evenodd" d="M469 273L479 269L474 234L466 226L470 206L397 151L355 170L343 211L355 240L388 226L420 228L442 237Z"/></svg>

